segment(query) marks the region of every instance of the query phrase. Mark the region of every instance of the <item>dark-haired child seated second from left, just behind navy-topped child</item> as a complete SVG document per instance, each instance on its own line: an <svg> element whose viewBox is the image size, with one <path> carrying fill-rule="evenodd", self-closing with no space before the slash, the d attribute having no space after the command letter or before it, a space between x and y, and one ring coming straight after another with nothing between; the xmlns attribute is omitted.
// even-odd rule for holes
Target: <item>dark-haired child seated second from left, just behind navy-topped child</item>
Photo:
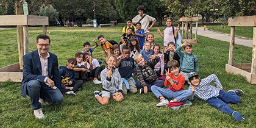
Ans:
<svg viewBox="0 0 256 128"><path fill-rule="evenodd" d="M76 52L76 68L74 68L74 71L76 73L76 79L77 80L87 80L87 68L85 67L84 60L84 54L82 52Z"/></svg>

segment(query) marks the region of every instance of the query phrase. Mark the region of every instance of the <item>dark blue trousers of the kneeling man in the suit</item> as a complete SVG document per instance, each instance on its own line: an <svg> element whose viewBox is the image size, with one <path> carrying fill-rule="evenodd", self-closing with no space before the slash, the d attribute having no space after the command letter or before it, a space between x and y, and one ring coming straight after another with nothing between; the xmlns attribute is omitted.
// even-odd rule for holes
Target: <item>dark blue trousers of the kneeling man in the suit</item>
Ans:
<svg viewBox="0 0 256 128"><path fill-rule="evenodd" d="M41 103L38 102L39 98L54 104L61 104L64 100L59 88L53 89L38 80L27 82L27 91L34 110L41 108Z"/></svg>

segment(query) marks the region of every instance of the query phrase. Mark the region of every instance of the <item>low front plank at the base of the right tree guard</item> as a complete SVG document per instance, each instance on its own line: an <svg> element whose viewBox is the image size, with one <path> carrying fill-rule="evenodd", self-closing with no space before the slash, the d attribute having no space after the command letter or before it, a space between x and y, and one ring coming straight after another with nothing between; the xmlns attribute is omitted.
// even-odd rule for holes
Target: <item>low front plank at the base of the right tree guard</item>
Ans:
<svg viewBox="0 0 256 128"><path fill-rule="evenodd" d="M236 68L235 66L226 64L226 71L227 73L232 73L232 74L240 74L242 76L245 76L248 82L251 82L251 73L244 71L242 69Z"/></svg>

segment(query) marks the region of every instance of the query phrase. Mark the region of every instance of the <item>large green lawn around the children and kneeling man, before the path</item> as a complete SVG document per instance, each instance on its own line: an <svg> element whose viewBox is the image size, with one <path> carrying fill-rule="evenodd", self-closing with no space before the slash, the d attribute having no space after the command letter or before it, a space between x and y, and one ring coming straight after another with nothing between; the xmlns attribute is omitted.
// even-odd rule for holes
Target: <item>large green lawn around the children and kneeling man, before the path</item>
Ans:
<svg viewBox="0 0 256 128"><path fill-rule="evenodd" d="M207 26L208 27L208 26ZM56 54L59 65L65 65L70 57L82 51L82 44L103 34L107 40L121 38L123 26L118 27L48 27L51 37L50 52ZM164 27L160 28L161 30ZM237 29L236 29L237 30ZM152 28L155 43L163 46L163 38ZM29 27L30 51L36 49L35 38L42 34L41 27ZM18 62L16 29L0 29L0 68ZM247 122L238 123L232 115L220 112L201 99L194 98L191 107L171 110L156 107L159 100L153 93L127 94L121 103L110 100L102 106L93 96L93 91L102 85L86 82L76 96L64 95L60 105L43 106L45 119L35 119L29 96L21 96L20 83L0 83L0 127L256 127L255 85L246 78L226 73L225 64L229 59L229 43L197 35L198 43L193 44L193 54L199 59L199 76L215 73L224 90L241 89L241 104L229 104L241 113ZM94 43L90 41L91 45ZM93 57L104 60L101 48L96 48ZM252 48L235 44L234 63L251 63ZM105 65L105 64L104 64ZM215 85L212 83L212 85ZM185 84L185 89L188 85Z"/></svg>

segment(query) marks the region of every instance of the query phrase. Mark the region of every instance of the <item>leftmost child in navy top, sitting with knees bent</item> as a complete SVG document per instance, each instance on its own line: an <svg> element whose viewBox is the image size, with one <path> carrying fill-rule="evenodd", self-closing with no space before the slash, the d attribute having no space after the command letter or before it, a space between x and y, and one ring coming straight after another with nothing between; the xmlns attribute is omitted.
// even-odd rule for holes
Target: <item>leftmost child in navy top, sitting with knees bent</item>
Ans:
<svg viewBox="0 0 256 128"><path fill-rule="evenodd" d="M60 66L60 76L62 77L62 93L76 96L76 91L78 91L84 84L83 80L76 80L76 74L74 73L74 68L77 62L75 58L68 59L66 66Z"/></svg>

